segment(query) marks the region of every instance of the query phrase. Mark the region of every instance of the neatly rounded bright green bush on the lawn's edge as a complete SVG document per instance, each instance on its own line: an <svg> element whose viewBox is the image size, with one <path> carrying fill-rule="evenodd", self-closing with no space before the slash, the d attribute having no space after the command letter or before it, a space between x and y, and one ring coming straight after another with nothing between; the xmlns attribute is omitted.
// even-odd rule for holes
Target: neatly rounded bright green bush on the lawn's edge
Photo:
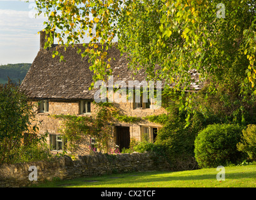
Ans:
<svg viewBox="0 0 256 200"><path fill-rule="evenodd" d="M238 124L213 124L198 133L195 139L195 158L201 168L238 164L245 157L237 150L242 137Z"/></svg>

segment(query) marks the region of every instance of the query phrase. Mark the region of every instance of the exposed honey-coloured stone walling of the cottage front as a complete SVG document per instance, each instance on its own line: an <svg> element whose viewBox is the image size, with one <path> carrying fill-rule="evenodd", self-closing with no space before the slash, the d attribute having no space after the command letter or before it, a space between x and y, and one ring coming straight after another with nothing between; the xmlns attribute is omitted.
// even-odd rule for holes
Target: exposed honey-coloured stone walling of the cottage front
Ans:
<svg viewBox="0 0 256 200"><path fill-rule="evenodd" d="M37 105L37 102L33 102ZM133 109L132 103L114 103L114 106L120 110L121 114L133 117L145 117L148 115L158 115L167 113L164 108L160 109ZM35 106L35 111L38 109ZM91 114L96 113L96 108L94 104L91 104ZM54 119L51 115L56 114L70 114L83 116L85 114L79 114L79 101L51 101L49 100L49 112L48 113L38 113L36 114L36 120L41 121L39 125L39 134L44 134L48 132L49 134L60 134L59 128L61 128L61 119ZM126 126L130 128L130 138L136 139L136 141L141 141L141 127L151 126L155 128L161 128L160 124L150 123L146 120L141 120L137 123L121 123L116 122L115 126ZM115 146L115 126L113 126L113 146ZM49 144L49 137L47 138L47 143ZM80 147L80 154L88 154L90 145L90 139L84 140L84 144Z"/></svg>

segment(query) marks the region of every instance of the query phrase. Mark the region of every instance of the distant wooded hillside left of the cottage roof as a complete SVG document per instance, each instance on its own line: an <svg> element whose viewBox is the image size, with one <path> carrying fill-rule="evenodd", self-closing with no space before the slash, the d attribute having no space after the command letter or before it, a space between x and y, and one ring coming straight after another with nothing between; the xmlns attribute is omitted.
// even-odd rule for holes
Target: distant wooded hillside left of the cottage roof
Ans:
<svg viewBox="0 0 256 200"><path fill-rule="evenodd" d="M31 63L0 65L0 84L8 83L8 77L13 83L22 82L30 66Z"/></svg>

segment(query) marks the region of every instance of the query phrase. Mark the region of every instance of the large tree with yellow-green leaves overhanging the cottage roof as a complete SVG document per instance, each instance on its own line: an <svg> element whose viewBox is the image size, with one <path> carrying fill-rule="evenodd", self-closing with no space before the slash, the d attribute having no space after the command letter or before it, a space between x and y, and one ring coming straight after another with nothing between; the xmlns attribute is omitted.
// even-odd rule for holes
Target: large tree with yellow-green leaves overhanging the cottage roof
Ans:
<svg viewBox="0 0 256 200"><path fill-rule="evenodd" d="M38 14L48 17L46 32L54 31L59 44L73 45L90 37L84 43L86 50L78 53L90 57L93 81L111 74L106 51L118 37L118 49L130 59L129 68L143 68L149 79L175 83L173 91L182 92L180 108L192 111L195 93L185 96L194 82L192 69L200 73L200 80L212 84L210 91L215 84L228 82L228 77L237 81L242 96L256 93L254 0L221 4L217 0L39 0L36 4ZM104 46L99 47L99 42Z"/></svg>

